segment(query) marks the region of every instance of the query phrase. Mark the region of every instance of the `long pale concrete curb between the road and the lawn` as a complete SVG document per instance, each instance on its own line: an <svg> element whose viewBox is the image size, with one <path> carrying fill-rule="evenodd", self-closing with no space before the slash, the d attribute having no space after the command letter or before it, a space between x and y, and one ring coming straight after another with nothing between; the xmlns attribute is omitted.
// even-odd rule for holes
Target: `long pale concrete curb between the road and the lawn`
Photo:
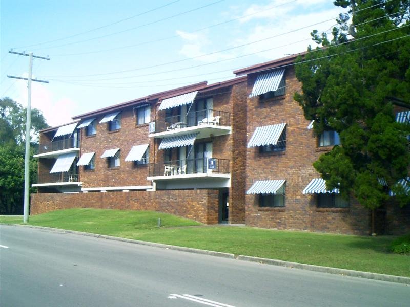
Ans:
<svg viewBox="0 0 410 307"><path fill-rule="evenodd" d="M90 237L105 238L108 240L115 240L115 241L127 242L127 243L132 243L132 244L140 244L140 245L145 245L145 246L152 246L152 247L158 247L158 248L164 248L164 249L170 249L170 250L176 250L176 251L182 251L182 252L210 255L210 256L237 259L237 260L250 261L250 262L258 262L260 264L274 265L274 266L279 266L279 267L295 268L295 269L309 270L309 271L315 271L315 272L321 272L321 273L330 273L330 274L338 274L338 275L345 275L345 276L352 276L352 277L360 277L360 278L367 278L367 279L375 279L375 280L410 284L410 277L386 275L386 274L378 274L378 273L362 272L362 271L354 271L354 270L346 270L346 269L338 269L338 268L330 268L330 267L322 267L322 266L315 266L315 265L306 265L306 264L299 264L298 262L258 258L258 257L244 256L244 255L239 255L235 257L234 254L230 254L230 253L201 250L201 249L167 245L167 244L161 244L161 243L152 243L152 242L146 242L146 241L140 241L140 240L134 240L134 239L120 238L120 237L115 237L115 236L110 236L110 235L80 232L80 231L75 231L75 230L65 230L65 229L58 229L58 228L51 228L51 227L44 227L44 226L21 225L21 224L7 224L7 225L43 229L43 230L59 232L59 233L72 233L72 234L78 234L78 235L84 235L84 236L90 236Z"/></svg>

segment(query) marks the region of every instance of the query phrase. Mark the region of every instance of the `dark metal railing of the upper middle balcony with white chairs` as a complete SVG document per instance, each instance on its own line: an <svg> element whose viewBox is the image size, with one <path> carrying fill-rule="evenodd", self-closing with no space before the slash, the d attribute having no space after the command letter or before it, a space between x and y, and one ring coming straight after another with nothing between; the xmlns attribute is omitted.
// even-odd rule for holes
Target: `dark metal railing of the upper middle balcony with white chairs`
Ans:
<svg viewBox="0 0 410 307"><path fill-rule="evenodd" d="M175 116L168 116L165 119L155 121L150 133L159 133L174 129L211 124L215 126L230 126L231 113L214 109L203 109Z"/></svg>

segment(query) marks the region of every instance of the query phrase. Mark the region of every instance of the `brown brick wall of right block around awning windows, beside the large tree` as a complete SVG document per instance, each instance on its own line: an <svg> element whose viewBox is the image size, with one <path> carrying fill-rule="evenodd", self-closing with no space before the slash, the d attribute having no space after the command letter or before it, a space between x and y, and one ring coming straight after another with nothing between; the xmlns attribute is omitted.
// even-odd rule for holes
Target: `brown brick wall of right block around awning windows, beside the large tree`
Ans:
<svg viewBox="0 0 410 307"><path fill-rule="evenodd" d="M256 75L248 77L248 94ZM246 196L246 223L249 226L368 234L370 214L355 201L349 209L316 208L315 195L302 194L313 178L320 175L312 163L329 148L317 148L313 130L303 116L302 108L293 99L300 83L293 67L286 69L286 93L278 99L260 102L248 98L247 141L256 127L286 123L286 150L272 155L259 153L258 147L247 149L247 190L256 180L286 180L284 208L261 208L257 195Z"/></svg>

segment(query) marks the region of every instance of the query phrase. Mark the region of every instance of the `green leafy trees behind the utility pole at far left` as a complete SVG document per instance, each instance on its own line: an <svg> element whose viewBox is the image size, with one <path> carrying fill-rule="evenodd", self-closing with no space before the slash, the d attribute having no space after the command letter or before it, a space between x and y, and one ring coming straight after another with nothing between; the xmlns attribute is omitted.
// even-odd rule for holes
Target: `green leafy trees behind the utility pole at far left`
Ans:
<svg viewBox="0 0 410 307"><path fill-rule="evenodd" d="M0 99L0 213L22 214L24 197L24 156L26 108L11 100ZM37 160L33 159L38 133L48 127L42 113L32 110L30 182L37 180ZM35 192L35 188L30 188Z"/></svg>

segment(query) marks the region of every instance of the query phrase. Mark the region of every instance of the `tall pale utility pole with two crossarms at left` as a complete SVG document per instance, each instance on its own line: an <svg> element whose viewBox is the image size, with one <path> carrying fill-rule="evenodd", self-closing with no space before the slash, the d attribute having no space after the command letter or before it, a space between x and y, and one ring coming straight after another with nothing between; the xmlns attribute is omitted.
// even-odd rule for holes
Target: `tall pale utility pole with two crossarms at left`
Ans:
<svg viewBox="0 0 410 307"><path fill-rule="evenodd" d="M29 221L29 202L30 202L31 81L49 83L48 81L44 81L44 80L37 80L37 79L32 80L31 79L31 74L33 70L33 58L39 58L39 59L44 59L44 60L50 60L50 59L48 57L33 55L32 52L27 54L27 53L14 52L10 50L9 53L24 55L24 56L29 57L28 78L22 78L22 77L10 76L10 75L7 76L9 78L27 80L28 97L27 97L27 119L26 119L26 152L25 152L25 157L24 157L24 216L23 216L23 222L27 223Z"/></svg>

